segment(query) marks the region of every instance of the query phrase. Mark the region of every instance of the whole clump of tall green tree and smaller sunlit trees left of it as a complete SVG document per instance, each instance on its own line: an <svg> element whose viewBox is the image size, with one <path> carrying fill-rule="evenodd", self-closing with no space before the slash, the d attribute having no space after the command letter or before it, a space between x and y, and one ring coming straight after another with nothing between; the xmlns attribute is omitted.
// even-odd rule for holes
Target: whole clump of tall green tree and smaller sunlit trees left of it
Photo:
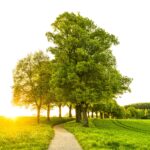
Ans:
<svg viewBox="0 0 150 150"><path fill-rule="evenodd" d="M80 14L65 12L47 32L50 60L43 52L20 60L14 71L14 102L40 109L51 103L75 106L76 121L88 126L88 110L129 91L131 79L116 69L110 48L118 39ZM103 109L103 107L101 107ZM92 111L92 110L91 110Z"/></svg>

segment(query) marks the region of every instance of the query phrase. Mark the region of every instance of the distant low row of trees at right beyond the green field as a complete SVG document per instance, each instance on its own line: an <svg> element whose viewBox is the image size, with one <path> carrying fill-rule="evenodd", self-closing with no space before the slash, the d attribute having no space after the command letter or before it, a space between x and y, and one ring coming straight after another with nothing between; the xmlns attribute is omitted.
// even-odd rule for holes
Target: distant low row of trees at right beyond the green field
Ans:
<svg viewBox="0 0 150 150"><path fill-rule="evenodd" d="M136 103L126 106L119 106L116 101L99 103L89 109L88 115L93 118L120 118L120 119L149 119L150 103Z"/></svg>

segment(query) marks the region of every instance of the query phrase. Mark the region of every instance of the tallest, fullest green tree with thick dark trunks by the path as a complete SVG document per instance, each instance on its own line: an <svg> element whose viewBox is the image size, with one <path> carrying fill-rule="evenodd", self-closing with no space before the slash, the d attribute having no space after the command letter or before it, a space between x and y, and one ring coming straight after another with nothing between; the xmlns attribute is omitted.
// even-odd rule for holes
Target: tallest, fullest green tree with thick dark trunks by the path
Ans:
<svg viewBox="0 0 150 150"><path fill-rule="evenodd" d="M93 21L80 14L65 12L47 32L48 41L54 46L57 70L55 85L62 95L76 105L76 121L88 126L87 109L90 103L112 99L128 90L131 80L116 69L116 60L110 47L117 45L117 38L97 27Z"/></svg>

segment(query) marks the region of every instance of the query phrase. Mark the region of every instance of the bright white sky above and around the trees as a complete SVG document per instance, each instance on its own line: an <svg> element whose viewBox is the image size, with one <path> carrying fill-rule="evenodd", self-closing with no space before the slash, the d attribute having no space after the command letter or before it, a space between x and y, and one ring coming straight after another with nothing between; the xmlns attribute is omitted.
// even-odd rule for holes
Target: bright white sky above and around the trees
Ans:
<svg viewBox="0 0 150 150"><path fill-rule="evenodd" d="M0 114L10 111L12 70L28 53L45 50L45 33L64 11L80 12L116 35L113 48L117 67L132 77L132 93L119 104L150 102L150 2L149 0L3 0L0 1ZM11 109L11 111L13 111Z"/></svg>

